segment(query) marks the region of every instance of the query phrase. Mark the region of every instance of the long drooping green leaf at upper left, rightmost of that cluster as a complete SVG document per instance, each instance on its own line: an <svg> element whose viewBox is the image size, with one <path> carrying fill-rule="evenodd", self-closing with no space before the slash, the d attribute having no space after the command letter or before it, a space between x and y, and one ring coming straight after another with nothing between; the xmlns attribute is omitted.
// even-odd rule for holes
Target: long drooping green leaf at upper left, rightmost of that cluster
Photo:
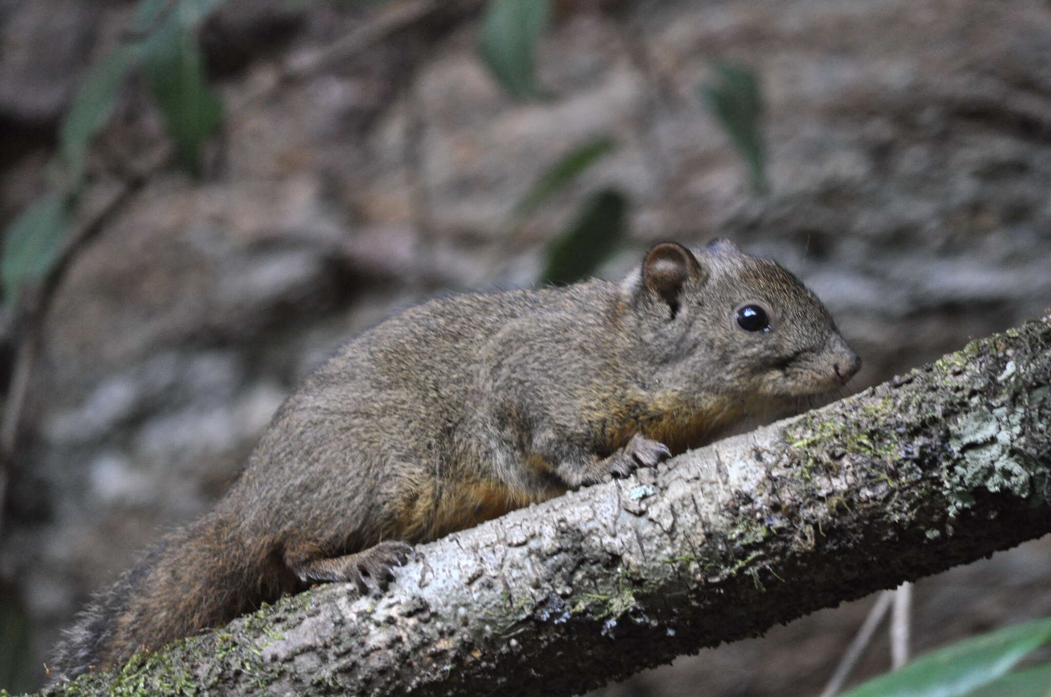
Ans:
<svg viewBox="0 0 1051 697"><path fill-rule="evenodd" d="M140 16L146 25L150 19L160 22L143 44L143 67L174 141L176 159L200 175L202 149L223 121L223 105L208 89L195 26L217 3L186 0L168 8L167 16L157 14L165 10L153 9L157 4L144 5L149 12Z"/></svg>

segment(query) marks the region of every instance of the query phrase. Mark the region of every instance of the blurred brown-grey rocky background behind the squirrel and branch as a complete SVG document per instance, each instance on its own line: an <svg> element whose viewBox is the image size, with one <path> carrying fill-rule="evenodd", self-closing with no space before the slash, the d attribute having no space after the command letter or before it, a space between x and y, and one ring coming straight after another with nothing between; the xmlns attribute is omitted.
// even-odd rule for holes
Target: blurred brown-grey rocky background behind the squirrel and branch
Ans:
<svg viewBox="0 0 1051 697"><path fill-rule="evenodd" d="M0 133L12 691L427 295L726 236L826 302L854 388L1051 305L1039 0L0 0ZM1049 572L1045 537L921 582L914 651L1051 614ZM598 694L817 695L871 604Z"/></svg>

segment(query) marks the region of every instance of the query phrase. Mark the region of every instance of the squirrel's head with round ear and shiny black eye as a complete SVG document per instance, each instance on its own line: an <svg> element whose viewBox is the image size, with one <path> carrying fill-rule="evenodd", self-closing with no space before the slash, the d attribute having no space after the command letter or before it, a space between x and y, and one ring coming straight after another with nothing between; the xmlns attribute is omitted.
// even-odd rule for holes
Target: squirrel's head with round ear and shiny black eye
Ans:
<svg viewBox="0 0 1051 697"><path fill-rule="evenodd" d="M861 367L813 293L726 239L657 245L621 289L655 387L792 398L839 388Z"/></svg>

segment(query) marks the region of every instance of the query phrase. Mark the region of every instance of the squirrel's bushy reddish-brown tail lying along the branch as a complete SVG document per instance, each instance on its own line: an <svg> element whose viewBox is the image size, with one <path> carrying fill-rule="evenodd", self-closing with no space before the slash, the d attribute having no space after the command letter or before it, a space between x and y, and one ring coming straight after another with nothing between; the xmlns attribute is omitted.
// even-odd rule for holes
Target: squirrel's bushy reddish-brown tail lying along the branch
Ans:
<svg viewBox="0 0 1051 697"><path fill-rule="evenodd" d="M78 615L51 675L73 679L121 663L276 599L294 577L271 550L218 512L171 532Z"/></svg>

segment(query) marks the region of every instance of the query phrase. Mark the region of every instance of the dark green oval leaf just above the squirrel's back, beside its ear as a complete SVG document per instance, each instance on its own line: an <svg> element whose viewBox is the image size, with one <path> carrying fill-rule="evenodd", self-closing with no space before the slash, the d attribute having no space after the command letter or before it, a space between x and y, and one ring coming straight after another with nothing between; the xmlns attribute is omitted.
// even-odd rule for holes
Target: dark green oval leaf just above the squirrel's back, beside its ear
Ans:
<svg viewBox="0 0 1051 697"><path fill-rule="evenodd" d="M540 280L564 286L594 275L623 238L626 211L627 199L616 189L592 194L569 230L548 247Z"/></svg>

